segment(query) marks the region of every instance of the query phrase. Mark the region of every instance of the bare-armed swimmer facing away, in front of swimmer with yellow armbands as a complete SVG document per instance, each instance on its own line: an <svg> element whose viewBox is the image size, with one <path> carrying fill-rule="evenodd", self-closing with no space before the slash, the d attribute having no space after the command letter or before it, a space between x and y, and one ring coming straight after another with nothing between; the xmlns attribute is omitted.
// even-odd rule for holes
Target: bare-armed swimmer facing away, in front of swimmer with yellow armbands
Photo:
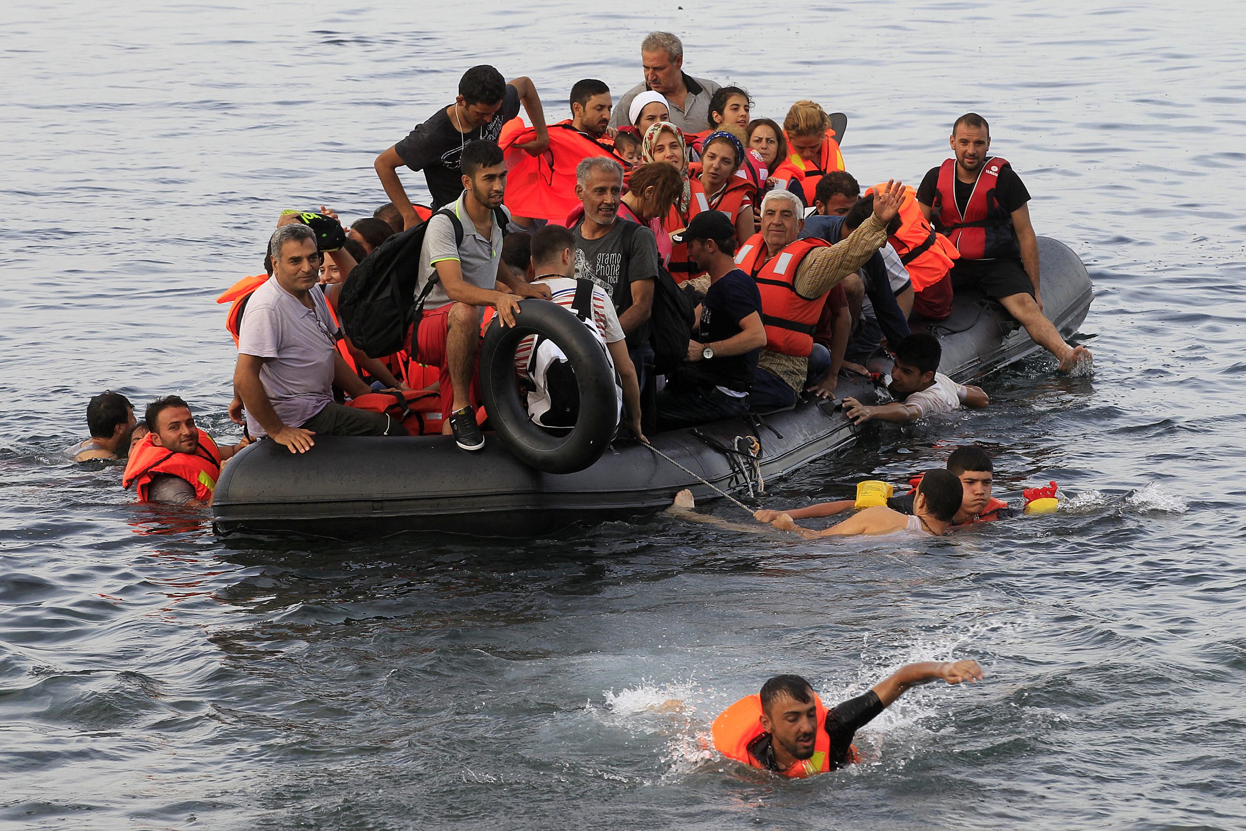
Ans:
<svg viewBox="0 0 1246 831"><path fill-rule="evenodd" d="M866 508L839 525L822 531L812 531L796 525L796 521L787 513L780 513L774 518L768 518L771 511L758 511L753 515L758 522L765 522L779 531L792 531L806 539L820 537L860 537L882 536L898 531L911 531L920 534L939 537L947 533L952 517L961 507L962 501L961 480L946 470L930 470L922 475L922 482L917 486L913 496L913 516L907 516L900 511L885 506ZM695 513L692 491L680 491L675 495L675 501L667 511L672 516L692 522L704 522L716 525L720 528L731 531L755 532L754 526L743 526L736 522L728 522L719 517L710 517Z"/></svg>

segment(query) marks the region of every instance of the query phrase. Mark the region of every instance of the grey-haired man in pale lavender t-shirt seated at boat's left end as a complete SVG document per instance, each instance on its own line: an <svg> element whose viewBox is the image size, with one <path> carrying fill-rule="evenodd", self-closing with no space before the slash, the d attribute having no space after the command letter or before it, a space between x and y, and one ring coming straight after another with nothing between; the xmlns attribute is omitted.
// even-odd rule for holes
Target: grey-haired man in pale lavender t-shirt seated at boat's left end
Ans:
<svg viewBox="0 0 1246 831"><path fill-rule="evenodd" d="M339 228L340 234L340 228ZM358 396L371 389L338 353L341 331L316 290L323 254L312 228L280 226L268 244L273 278L247 303L238 333L234 389L252 436L268 436L290 452L307 452L313 436L406 435L389 416L336 404L333 385ZM329 252L343 274L355 265L344 249Z"/></svg>

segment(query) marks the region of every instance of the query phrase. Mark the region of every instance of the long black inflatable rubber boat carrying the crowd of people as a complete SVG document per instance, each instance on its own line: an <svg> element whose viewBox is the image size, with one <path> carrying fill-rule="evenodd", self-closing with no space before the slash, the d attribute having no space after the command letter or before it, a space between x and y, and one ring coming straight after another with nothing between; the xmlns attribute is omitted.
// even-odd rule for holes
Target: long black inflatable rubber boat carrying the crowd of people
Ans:
<svg viewBox="0 0 1246 831"><path fill-rule="evenodd" d="M1090 277L1063 243L1039 237L1038 244L1044 309L1069 338L1090 308ZM913 320L912 326L939 338L939 369L961 382L1040 351L1002 306L974 293L958 293L946 320ZM486 340L482 368L487 351ZM887 371L890 365L875 363L871 369ZM485 375L482 369L482 381ZM878 397L875 385L860 376L842 378L837 392L865 401ZM493 409L490 412L495 419L498 415ZM857 430L835 402L807 399L791 410L674 430L650 440L708 482L748 495L759 477L771 482L842 451ZM222 472L213 528L224 537L358 539L401 531L520 537L662 510L685 487L698 498L716 496L632 440L598 449L601 456L592 465L569 473L535 468L521 461L521 456L530 457L523 450L500 434L487 434L478 452L459 450L449 436L325 436L316 437L315 447L303 455L262 441L243 450Z"/></svg>

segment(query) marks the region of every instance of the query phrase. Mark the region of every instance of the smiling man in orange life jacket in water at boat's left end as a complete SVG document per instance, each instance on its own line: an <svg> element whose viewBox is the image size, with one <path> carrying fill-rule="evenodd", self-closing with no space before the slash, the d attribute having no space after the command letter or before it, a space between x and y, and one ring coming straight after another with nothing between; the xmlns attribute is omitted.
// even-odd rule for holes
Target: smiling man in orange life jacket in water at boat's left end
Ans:
<svg viewBox="0 0 1246 831"><path fill-rule="evenodd" d="M250 444L217 446L194 424L191 407L176 395L147 405L147 435L135 442L121 486L133 487L140 502L187 507L212 505L221 467Z"/></svg>

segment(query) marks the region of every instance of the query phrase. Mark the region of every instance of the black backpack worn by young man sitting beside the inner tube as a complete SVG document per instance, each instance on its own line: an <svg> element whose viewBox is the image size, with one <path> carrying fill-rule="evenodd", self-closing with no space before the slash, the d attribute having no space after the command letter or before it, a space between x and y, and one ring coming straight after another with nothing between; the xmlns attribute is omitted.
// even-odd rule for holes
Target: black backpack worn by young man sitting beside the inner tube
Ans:
<svg viewBox="0 0 1246 831"><path fill-rule="evenodd" d="M449 208L432 216L437 214L450 219L455 245L461 245L464 227L459 217ZM415 297L415 287L420 284L420 249L429 222L394 234L374 248L341 285L338 298L341 329L369 358L384 358L406 348L407 328L419 321L425 299L440 282L434 270L420 297ZM493 222L505 233L507 218L501 208L493 212Z"/></svg>

